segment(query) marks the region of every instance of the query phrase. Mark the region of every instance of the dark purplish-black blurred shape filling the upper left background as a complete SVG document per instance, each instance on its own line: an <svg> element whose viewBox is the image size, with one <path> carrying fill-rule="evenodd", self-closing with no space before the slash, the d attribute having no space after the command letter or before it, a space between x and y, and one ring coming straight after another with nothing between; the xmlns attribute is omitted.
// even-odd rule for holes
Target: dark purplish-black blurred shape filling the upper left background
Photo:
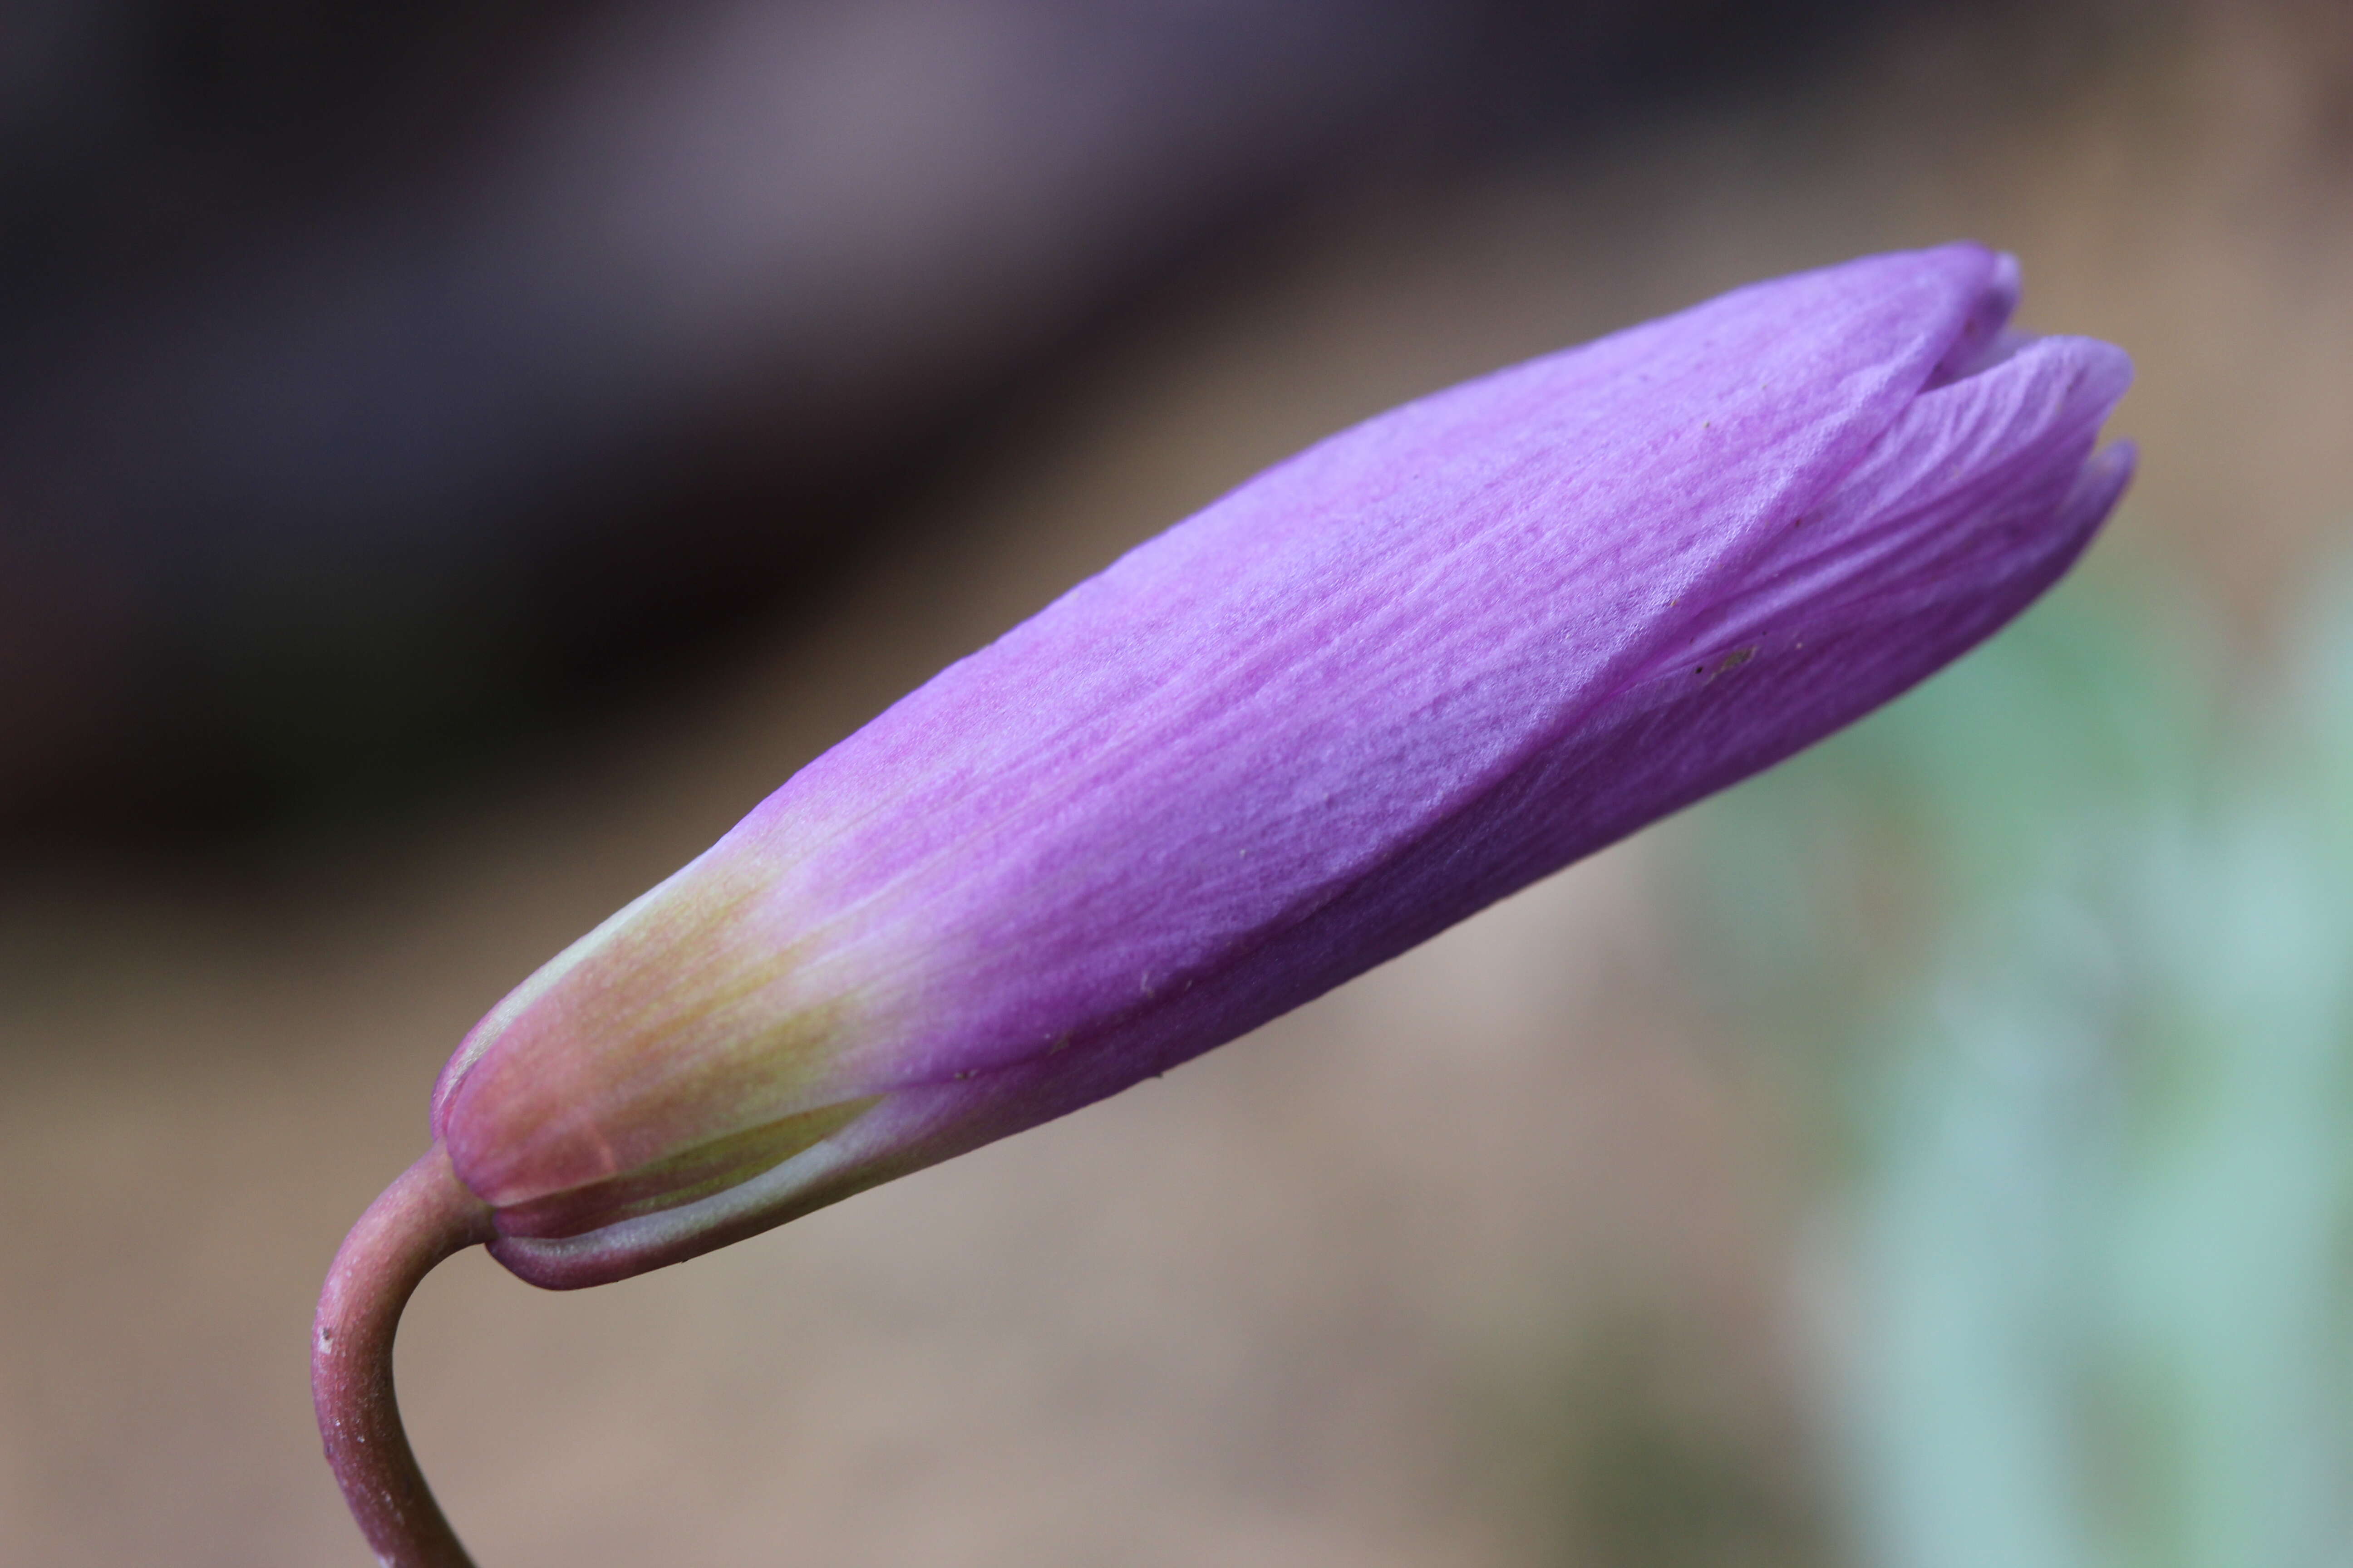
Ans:
<svg viewBox="0 0 2353 1568"><path fill-rule="evenodd" d="M1892 9L7 0L0 842L395 804L1334 181Z"/></svg>

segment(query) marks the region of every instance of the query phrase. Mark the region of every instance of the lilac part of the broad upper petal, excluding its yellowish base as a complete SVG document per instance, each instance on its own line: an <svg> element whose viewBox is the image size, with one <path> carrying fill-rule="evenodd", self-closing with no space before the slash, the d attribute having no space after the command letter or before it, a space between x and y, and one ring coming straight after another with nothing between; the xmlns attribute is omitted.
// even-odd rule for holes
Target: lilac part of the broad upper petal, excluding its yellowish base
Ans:
<svg viewBox="0 0 2353 1568"><path fill-rule="evenodd" d="M929 1006L852 1077L1106 1027L1459 813L1871 449L1993 273L1974 247L1854 263L1409 404L845 741L744 832L816 844L807 903L889 905L922 973Z"/></svg>

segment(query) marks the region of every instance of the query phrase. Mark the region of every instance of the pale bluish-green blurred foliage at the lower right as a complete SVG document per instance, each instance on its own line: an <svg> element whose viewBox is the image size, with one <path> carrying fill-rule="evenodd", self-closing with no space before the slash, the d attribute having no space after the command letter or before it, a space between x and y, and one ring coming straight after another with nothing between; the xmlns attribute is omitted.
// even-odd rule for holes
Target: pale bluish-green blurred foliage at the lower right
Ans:
<svg viewBox="0 0 2353 1568"><path fill-rule="evenodd" d="M2353 574L2268 668L2202 623L2071 583L1694 813L1859 1561L2353 1561Z"/></svg>

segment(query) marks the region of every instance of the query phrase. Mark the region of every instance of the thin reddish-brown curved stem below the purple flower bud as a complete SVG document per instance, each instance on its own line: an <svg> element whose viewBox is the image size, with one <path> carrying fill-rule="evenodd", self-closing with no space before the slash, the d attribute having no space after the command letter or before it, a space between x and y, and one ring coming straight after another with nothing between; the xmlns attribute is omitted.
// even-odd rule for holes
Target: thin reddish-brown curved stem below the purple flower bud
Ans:
<svg viewBox="0 0 2353 1568"><path fill-rule="evenodd" d="M351 1227L318 1298L311 1328L318 1434L384 1568L473 1568L400 1429L393 1331L435 1262L489 1239L489 1208L466 1192L435 1143Z"/></svg>

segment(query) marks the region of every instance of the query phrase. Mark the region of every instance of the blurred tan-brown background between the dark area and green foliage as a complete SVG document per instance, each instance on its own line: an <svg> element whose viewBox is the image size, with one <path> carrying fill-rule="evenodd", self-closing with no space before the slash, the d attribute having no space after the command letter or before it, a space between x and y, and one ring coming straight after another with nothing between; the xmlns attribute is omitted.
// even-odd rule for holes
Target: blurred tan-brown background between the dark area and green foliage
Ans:
<svg viewBox="0 0 2353 1568"><path fill-rule="evenodd" d="M308 1312L466 1025L944 661L1402 397L1979 237L2024 259L2028 327L2139 364L2115 428L2144 470L2089 571L2186 576L2261 644L2353 520L2344 16L1840 16L1598 125L1304 158L1242 205L1280 216L1202 216L1153 282L1089 284L1031 348L908 395L927 435L861 458L889 482L819 484L849 498L838 543L706 555L795 585L626 701L555 724L532 696L525 741L398 809L66 849L35 818L0 889L0 1561L362 1561ZM732 433L793 407L744 386ZM664 447L609 517L779 494L706 456ZM24 799L82 776L49 778ZM687 1267L544 1295L447 1265L402 1333L428 1474L515 1568L1840 1561L1793 1392L1807 1154L1692 1006L1654 858L1609 851L1165 1081Z"/></svg>

